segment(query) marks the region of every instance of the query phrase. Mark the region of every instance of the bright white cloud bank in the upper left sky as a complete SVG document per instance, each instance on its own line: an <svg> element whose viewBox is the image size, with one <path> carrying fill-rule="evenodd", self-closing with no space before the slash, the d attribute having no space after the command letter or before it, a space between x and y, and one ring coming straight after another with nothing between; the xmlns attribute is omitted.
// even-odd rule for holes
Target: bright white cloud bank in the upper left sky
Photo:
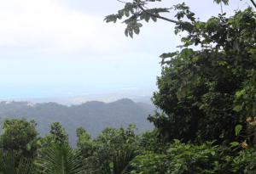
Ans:
<svg viewBox="0 0 256 174"><path fill-rule="evenodd" d="M0 15L0 49L9 56L79 50L106 53L125 44L122 38L111 35L120 27L124 30L125 25L113 27L103 18L69 9L53 0L1 1Z"/></svg>

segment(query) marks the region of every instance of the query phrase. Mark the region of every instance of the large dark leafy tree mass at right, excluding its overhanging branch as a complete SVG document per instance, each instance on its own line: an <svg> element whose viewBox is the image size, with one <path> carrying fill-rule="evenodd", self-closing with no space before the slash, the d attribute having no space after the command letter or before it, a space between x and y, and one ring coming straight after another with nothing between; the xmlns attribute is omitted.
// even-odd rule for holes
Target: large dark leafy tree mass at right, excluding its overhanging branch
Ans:
<svg viewBox="0 0 256 174"><path fill-rule="evenodd" d="M177 8L184 9L182 5ZM179 133L181 136L177 139L184 138L187 141L186 137L190 135L183 137L182 132L189 130L193 134L191 139L194 140L196 135L200 143L212 139L219 142L220 138L224 143L231 143L235 141L234 127L237 124L247 124L242 110L236 112L230 108L234 107L236 92L241 89L242 81L247 76L246 69L254 66L253 62L248 64L253 59L247 53L254 48L252 37L249 37L254 36L255 32L254 14L251 8L247 8L244 13L240 11L229 20L224 15L212 17L207 23L192 20L194 26L180 23L175 27L176 34L181 30L189 32L189 36L182 38L185 44L181 48L193 43L201 43L202 48L208 48L204 44L210 42L217 42L217 45L202 51L184 48L181 53L163 53L160 56L163 59L162 65L170 67L163 68L162 77L158 80L161 92L154 93L154 104L160 106L168 117L154 115L149 116L148 120L154 122L154 126L161 127L162 134L166 132L165 127L168 127L165 123L174 124L173 121L176 121L179 128L175 127L168 132L174 135ZM248 27L247 24L252 25ZM201 37L205 40L201 41ZM218 52L220 47L224 51ZM175 55L175 59L164 61ZM177 99L174 97L176 95ZM194 118L196 124L193 122Z"/></svg>

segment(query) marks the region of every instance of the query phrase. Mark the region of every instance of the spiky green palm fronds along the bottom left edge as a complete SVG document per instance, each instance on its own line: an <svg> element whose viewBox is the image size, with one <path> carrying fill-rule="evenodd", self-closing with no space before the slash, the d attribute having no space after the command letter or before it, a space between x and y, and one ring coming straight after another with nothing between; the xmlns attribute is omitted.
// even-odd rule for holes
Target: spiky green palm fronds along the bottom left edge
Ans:
<svg viewBox="0 0 256 174"><path fill-rule="evenodd" d="M34 161L26 159L24 162L24 158L22 156L18 168L15 168L14 156L7 155L0 160L0 172L3 174L76 174L81 173L84 170L76 161L80 154L74 154L73 149L67 143L61 145L60 142L51 142L49 144L49 149L44 149L43 153L45 158L39 158Z"/></svg>

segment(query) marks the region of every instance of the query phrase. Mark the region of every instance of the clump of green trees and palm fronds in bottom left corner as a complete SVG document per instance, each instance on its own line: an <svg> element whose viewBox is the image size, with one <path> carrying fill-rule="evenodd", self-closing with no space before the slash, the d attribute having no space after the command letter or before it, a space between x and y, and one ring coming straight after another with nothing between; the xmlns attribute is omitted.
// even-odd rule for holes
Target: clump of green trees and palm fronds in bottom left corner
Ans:
<svg viewBox="0 0 256 174"><path fill-rule="evenodd" d="M53 121L53 125L50 125L51 134L44 135L44 138L36 138L39 134L35 130L37 123L35 121L31 123L34 125L30 126L24 117L22 120L5 120L1 148L3 156L7 156L4 158L5 164L0 163L0 171L32 173L34 169L39 172L39 166L43 167L44 170L40 171L43 173L79 173L83 170L83 166L77 163L81 153L68 145L68 135L65 133L65 128L61 128L60 122ZM41 156L38 157L38 153ZM12 161L15 163L13 164Z"/></svg>

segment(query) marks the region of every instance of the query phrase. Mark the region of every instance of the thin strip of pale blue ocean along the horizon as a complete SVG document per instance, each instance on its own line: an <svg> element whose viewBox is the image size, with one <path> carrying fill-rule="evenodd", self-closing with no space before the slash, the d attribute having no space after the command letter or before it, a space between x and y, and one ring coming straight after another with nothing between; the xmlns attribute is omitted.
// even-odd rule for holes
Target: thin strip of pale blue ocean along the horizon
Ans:
<svg viewBox="0 0 256 174"><path fill-rule="evenodd" d="M155 91L155 85L1 85L0 100L17 98L75 97L93 93L125 93L133 90Z"/></svg>

